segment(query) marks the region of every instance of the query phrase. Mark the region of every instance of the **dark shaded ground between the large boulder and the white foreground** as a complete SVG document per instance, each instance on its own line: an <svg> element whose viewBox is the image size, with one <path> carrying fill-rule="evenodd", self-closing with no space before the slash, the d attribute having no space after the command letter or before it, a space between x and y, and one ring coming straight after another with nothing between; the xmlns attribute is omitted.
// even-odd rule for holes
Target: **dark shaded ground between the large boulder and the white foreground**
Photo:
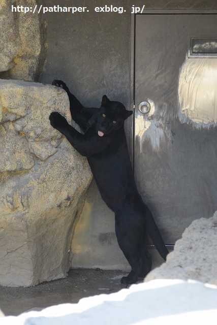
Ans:
<svg viewBox="0 0 217 325"><path fill-rule="evenodd" d="M117 270L70 270L65 279L32 287L0 286L0 309L6 316L17 316L29 309L40 310L52 305L77 303L81 298L110 294L125 288L120 278L128 273Z"/></svg>

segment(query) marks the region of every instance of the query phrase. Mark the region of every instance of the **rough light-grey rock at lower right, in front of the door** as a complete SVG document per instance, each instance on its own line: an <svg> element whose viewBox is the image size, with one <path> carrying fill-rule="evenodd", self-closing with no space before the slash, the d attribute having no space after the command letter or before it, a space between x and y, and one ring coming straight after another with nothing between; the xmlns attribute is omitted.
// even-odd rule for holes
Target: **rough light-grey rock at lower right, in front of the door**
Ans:
<svg viewBox="0 0 217 325"><path fill-rule="evenodd" d="M153 279L194 279L217 284L217 212L201 218L185 229L175 243L167 262L151 271L145 281Z"/></svg>

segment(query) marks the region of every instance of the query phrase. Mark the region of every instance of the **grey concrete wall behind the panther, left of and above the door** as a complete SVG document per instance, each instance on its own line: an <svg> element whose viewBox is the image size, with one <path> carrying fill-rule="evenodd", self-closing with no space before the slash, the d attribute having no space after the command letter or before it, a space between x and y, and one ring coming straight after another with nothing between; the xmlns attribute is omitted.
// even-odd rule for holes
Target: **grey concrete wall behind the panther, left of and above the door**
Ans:
<svg viewBox="0 0 217 325"><path fill-rule="evenodd" d="M96 13L95 7L124 6L126 13ZM69 6L62 0L44 0L44 6ZM216 0L73 1L88 13L44 15L47 59L40 82L64 80L86 106L97 106L105 93L130 109L131 6L145 9L217 9ZM72 6L72 4L70 4ZM60 110L60 108L58 108ZM132 109L132 108L131 108ZM130 124L126 125L130 138ZM70 180L69 180L70 181ZM93 181L72 242L72 267L128 269L114 233L114 215Z"/></svg>

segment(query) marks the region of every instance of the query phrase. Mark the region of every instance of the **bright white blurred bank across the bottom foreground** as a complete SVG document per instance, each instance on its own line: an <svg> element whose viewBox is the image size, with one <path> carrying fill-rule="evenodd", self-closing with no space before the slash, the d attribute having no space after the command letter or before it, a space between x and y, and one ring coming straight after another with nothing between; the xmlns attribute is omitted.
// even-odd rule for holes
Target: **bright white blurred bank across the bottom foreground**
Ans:
<svg viewBox="0 0 217 325"><path fill-rule="evenodd" d="M153 280L118 293L83 298L17 317L1 325L215 325L217 287L189 280Z"/></svg>

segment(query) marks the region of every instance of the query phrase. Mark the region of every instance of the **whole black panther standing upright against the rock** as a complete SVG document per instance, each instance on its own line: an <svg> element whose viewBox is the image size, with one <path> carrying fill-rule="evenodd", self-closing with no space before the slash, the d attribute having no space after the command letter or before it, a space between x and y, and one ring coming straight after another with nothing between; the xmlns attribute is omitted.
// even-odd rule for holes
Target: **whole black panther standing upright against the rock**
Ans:
<svg viewBox="0 0 217 325"><path fill-rule="evenodd" d="M145 230L164 259L168 250L135 184L123 127L132 111L127 111L119 102L110 101L106 95L100 108L85 108L63 81L54 80L52 84L68 93L72 118L84 134L76 131L58 112L50 114L50 123L87 157L101 196L115 213L117 241L132 268L121 283L135 283L138 276L144 277L151 269Z"/></svg>

